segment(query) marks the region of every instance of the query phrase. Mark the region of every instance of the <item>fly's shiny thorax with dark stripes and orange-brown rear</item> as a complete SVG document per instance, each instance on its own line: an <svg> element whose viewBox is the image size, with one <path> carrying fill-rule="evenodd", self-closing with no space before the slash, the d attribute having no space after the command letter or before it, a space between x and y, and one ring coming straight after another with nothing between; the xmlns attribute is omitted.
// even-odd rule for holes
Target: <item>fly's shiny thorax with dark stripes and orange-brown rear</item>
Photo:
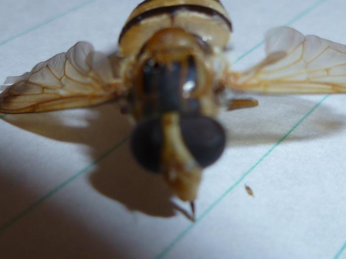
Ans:
<svg viewBox="0 0 346 259"><path fill-rule="evenodd" d="M142 48L129 70L136 120L176 111L214 116L214 72L206 46L181 29L165 29Z"/></svg>

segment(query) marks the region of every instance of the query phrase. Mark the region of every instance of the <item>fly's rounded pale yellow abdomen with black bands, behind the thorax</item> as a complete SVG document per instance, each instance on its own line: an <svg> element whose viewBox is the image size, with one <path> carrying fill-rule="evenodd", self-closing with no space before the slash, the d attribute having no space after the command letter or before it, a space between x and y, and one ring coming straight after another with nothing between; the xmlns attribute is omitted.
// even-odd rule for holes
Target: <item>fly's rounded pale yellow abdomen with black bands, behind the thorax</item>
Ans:
<svg viewBox="0 0 346 259"><path fill-rule="evenodd" d="M133 10L121 32L121 53L135 55L156 32L169 27L198 35L214 49L225 47L232 31L219 0L145 0Z"/></svg>

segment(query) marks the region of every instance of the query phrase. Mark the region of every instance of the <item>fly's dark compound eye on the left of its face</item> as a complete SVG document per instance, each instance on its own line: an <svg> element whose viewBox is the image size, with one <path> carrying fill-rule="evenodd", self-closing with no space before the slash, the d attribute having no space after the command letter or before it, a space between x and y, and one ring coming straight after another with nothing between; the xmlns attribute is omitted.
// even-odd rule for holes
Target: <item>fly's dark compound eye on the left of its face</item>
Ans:
<svg viewBox="0 0 346 259"><path fill-rule="evenodd" d="M157 118L137 124L131 135L130 147L141 166L158 173L162 149L161 120Z"/></svg>

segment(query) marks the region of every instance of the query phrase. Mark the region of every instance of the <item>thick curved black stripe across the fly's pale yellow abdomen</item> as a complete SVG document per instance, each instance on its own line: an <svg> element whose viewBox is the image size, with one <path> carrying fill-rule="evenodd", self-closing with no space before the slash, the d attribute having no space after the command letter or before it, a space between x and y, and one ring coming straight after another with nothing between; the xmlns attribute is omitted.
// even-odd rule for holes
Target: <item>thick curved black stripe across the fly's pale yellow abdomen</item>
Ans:
<svg viewBox="0 0 346 259"><path fill-rule="evenodd" d="M190 11L190 12L198 12L205 14L207 16L216 17L220 20L222 20L228 27L230 31L232 31L232 23L228 20L226 16L224 16L222 13L202 5L195 5L195 4L181 4L181 5L171 5L171 6L164 6L164 7L158 7L154 9L150 9L148 11L145 11L136 17L132 18L128 23L125 24L123 27L122 32L120 33L119 37L119 43L121 42L124 35L127 33L130 28L136 24L139 24L141 21L152 18L157 15L162 14L169 14L171 16L174 16L176 12L179 11Z"/></svg>

